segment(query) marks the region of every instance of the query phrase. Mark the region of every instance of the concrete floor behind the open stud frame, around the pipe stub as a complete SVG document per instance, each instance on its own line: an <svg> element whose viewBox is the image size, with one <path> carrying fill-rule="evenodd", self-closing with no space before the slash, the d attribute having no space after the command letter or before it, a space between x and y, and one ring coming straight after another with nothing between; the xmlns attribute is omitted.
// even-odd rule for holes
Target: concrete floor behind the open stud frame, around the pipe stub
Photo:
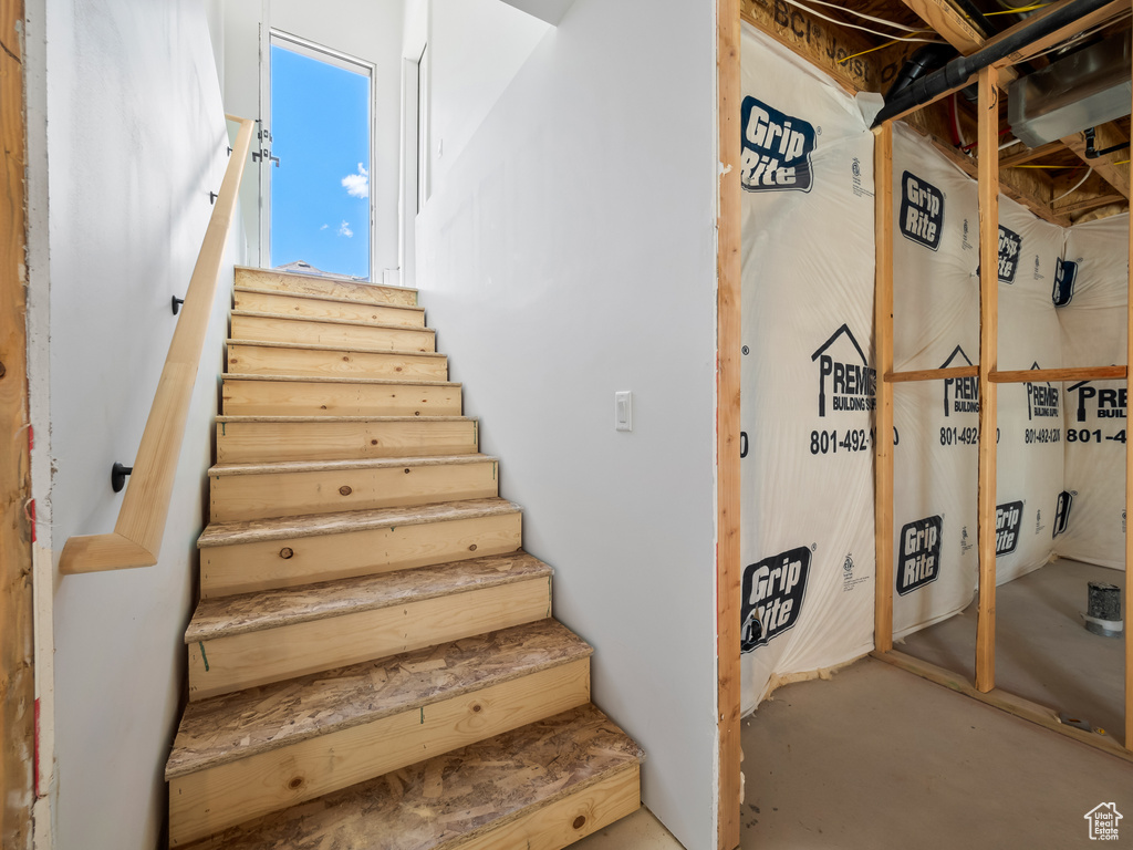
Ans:
<svg viewBox="0 0 1133 850"><path fill-rule="evenodd" d="M1124 588L1125 573L1058 560L996 588L996 687L1119 737L1125 641L1082 626L1090 581ZM974 681L976 604L897 648Z"/></svg>

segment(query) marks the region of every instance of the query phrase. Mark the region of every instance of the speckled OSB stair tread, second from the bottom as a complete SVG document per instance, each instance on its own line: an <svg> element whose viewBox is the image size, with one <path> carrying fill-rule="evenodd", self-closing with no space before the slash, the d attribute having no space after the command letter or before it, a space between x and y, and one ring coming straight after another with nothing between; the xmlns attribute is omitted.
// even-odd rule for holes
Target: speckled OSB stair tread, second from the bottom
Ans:
<svg viewBox="0 0 1133 850"><path fill-rule="evenodd" d="M548 618L190 703L165 779L416 711L593 652Z"/></svg>

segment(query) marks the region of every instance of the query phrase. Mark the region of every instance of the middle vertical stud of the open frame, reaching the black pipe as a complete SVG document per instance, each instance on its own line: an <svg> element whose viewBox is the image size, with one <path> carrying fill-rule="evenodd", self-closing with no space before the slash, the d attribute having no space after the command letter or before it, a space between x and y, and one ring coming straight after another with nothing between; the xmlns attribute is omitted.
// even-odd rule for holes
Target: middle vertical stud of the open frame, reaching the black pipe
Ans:
<svg viewBox="0 0 1133 850"><path fill-rule="evenodd" d="M995 151L999 139L998 71L979 74L979 144ZM995 687L995 486L996 385L999 325L999 158L981 156L980 204L980 435L979 435L979 613L976 622L976 689Z"/></svg>

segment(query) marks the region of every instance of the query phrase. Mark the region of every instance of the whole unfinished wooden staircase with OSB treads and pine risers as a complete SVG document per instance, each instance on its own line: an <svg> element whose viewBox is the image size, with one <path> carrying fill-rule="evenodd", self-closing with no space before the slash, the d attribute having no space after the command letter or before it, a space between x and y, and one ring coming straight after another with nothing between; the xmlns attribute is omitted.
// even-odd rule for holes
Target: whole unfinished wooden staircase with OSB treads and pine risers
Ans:
<svg viewBox="0 0 1133 850"><path fill-rule="evenodd" d="M169 843L557 850L640 805L416 291L238 269Z"/></svg>

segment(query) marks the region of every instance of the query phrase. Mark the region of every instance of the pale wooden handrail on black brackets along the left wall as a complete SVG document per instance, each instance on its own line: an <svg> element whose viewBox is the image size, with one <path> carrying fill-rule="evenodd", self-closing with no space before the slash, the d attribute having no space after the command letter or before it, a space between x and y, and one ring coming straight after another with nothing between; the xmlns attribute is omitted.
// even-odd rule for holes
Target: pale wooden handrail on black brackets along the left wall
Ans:
<svg viewBox="0 0 1133 850"><path fill-rule="evenodd" d="M201 352L216 297L220 266L236 213L244 165L252 147L252 119L235 116L225 118L239 122L240 129L224 171L216 205L205 230L197 263L193 267L185 306L169 343L169 354L150 408L150 418L142 433L134 473L126 486L118 521L110 534L68 537L59 559L60 572L97 572L152 567L157 563L193 385L197 380Z"/></svg>

